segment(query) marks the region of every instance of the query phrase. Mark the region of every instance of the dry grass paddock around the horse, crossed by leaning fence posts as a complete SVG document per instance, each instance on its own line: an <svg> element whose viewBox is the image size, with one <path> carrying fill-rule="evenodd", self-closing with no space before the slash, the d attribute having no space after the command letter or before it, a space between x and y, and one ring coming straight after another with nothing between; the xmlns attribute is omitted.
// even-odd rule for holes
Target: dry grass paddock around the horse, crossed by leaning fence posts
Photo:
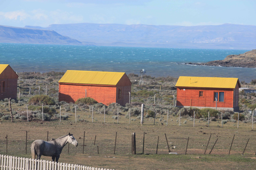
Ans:
<svg viewBox="0 0 256 170"><path fill-rule="evenodd" d="M21 106L25 107L25 106ZM94 114L94 122L92 123L91 113L77 112L81 115L85 122L75 123L75 116L71 115L68 120L62 121L34 121L23 122L17 121L11 123L8 121L0 121L0 154L6 154L6 135L8 135L8 155L31 157L30 144L36 139L47 140L47 131L49 131L49 139L58 138L68 134L74 134L79 143L78 147L66 146L60 156L59 161L72 164L82 164L91 167L105 167L118 170L131 169L147 169L147 170L167 170L167 169L246 169L254 170L256 166L256 132L252 129L250 123L240 122L237 128L237 122L228 122L221 128L221 121L207 122L193 121L181 119L181 126L177 122L178 117L172 115L168 118L168 126L161 125L159 121L160 115L156 119L145 119L144 125L140 125L140 120L131 121L125 118L125 115L117 120L112 119L112 115L106 115L106 123L104 124L104 115ZM164 119L167 119L167 115ZM186 124L184 123L185 121ZM26 148L26 131L28 132L27 154ZM83 149L83 135L85 132L85 153ZM115 147L115 132L117 132L117 143ZM136 133L136 155L131 154L131 133ZM145 147L142 154L143 133L145 132ZM170 150L177 152L178 155L168 154L165 135L167 135ZM206 154L204 151L207 141L211 135L211 140ZM96 141L94 145L94 140ZM233 146L228 155L230 144L235 135ZM157 140L159 136L158 154L156 154ZM187 154L185 149L187 138L188 143ZM213 143L218 138L212 153L209 155ZM250 138L250 139L249 139ZM245 154L242 156L247 140ZM99 147L99 154L97 152ZM176 148L173 148L173 147ZM173 148L173 149L172 149ZM42 159L50 160L50 157L42 157Z"/></svg>

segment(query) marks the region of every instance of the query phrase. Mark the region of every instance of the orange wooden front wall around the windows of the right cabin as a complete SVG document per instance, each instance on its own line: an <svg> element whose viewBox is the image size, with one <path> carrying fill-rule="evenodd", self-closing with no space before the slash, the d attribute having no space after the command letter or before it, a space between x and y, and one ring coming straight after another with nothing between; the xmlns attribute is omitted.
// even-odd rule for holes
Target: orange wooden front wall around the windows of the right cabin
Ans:
<svg viewBox="0 0 256 170"><path fill-rule="evenodd" d="M177 87L177 106L216 107L214 92L224 92L224 102L217 102L217 107L233 108L233 89L197 87Z"/></svg>

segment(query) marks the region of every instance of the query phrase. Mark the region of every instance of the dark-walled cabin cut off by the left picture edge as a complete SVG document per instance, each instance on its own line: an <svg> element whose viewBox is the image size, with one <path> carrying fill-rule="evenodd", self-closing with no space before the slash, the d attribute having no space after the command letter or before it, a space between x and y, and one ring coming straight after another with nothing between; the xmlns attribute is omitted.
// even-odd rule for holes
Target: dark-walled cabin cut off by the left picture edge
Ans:
<svg viewBox="0 0 256 170"><path fill-rule="evenodd" d="M0 64L0 100L17 99L18 77L9 64Z"/></svg>

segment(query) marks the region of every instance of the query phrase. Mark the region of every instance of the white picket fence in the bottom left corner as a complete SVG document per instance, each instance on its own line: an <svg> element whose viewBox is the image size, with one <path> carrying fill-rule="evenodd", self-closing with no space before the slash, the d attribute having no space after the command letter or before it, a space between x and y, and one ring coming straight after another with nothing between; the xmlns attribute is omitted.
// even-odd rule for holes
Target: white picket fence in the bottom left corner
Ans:
<svg viewBox="0 0 256 170"><path fill-rule="evenodd" d="M112 170L1 154L0 167L1 170Z"/></svg>

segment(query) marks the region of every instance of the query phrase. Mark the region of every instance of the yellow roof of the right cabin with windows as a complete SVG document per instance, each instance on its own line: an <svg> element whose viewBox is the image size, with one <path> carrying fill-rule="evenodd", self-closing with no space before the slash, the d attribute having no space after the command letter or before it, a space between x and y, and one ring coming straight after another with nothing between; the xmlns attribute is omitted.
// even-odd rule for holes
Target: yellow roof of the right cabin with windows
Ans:
<svg viewBox="0 0 256 170"><path fill-rule="evenodd" d="M234 89L236 87L236 83L241 87L238 78L180 76L175 86Z"/></svg>

